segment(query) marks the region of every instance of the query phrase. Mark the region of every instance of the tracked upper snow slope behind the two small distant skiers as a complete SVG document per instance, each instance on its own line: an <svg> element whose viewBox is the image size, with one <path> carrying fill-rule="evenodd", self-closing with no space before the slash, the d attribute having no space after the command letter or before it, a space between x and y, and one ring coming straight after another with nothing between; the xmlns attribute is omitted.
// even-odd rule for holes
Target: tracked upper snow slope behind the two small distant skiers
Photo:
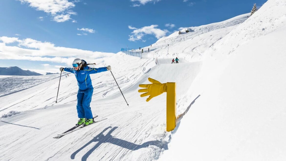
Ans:
<svg viewBox="0 0 286 161"><path fill-rule="evenodd" d="M201 25L197 27L189 27L194 32L185 32L182 29L182 34L174 32L170 36L159 39L155 44L152 44L150 52L143 57L147 58L184 58L189 62L201 61L205 56L208 48L211 48L219 40L225 37L234 28L243 23L250 13L239 15L231 19Z"/></svg>

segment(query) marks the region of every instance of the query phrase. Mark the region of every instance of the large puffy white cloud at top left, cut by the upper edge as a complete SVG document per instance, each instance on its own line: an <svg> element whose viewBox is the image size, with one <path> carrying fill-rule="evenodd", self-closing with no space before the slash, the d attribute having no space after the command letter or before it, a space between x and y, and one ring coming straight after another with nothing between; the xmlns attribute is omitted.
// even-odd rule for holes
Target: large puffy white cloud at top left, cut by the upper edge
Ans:
<svg viewBox="0 0 286 161"><path fill-rule="evenodd" d="M56 22L68 21L70 15L75 15L76 12L70 10L75 7L76 1L69 2L68 0L17 0L21 3L28 3L30 7L38 11L44 11L51 14ZM67 11L67 13L65 13ZM60 15L59 15L60 14Z"/></svg>

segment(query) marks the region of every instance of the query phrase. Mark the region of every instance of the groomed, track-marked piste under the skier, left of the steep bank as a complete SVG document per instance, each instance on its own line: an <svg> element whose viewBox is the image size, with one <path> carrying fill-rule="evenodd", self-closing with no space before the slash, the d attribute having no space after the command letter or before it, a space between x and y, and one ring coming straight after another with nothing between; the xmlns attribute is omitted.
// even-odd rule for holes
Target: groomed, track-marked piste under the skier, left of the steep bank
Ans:
<svg viewBox="0 0 286 161"><path fill-rule="evenodd" d="M177 87L177 97L180 98L188 90L186 84L191 83L196 77L195 74L199 72L200 63L188 63L186 70L176 70L183 68L186 64L155 66L153 60L132 57L123 53L116 54L108 61L106 64L114 66L112 71L122 87L129 107L109 72L94 74L92 111L99 115L98 119L107 119L86 127L84 130L54 139L53 136L65 131L67 127L72 127L77 120L76 91L74 92L74 88L77 88L76 81L71 76L62 78L63 82L60 86L62 90L58 98L59 103L56 105L52 102L55 101L57 85L53 80L46 82L49 85L42 83L35 86L35 89L50 87L41 91L39 96L34 95L34 99L27 96L26 98L29 97L31 100L25 98L26 100L9 107L9 109L17 109L17 107L23 109L27 106L37 106L37 109L29 109L1 119L0 126L5 133L1 134L0 158L4 160L158 159L161 152L168 149L170 135L165 132L166 95L163 94L147 103L146 98L141 98L137 92L138 85L148 84L148 77L162 83L182 82ZM178 74L178 76L170 78L168 74ZM98 81L100 83L97 83ZM74 85L71 85L72 83ZM128 85L124 87L124 84ZM32 91L32 88L29 91ZM25 90L21 92L24 93ZM11 100L16 95L17 93L5 96L5 99ZM40 95L41 98L39 98ZM52 95L53 100L50 102ZM109 97L106 97L107 95ZM103 97L105 99L100 99Z"/></svg>

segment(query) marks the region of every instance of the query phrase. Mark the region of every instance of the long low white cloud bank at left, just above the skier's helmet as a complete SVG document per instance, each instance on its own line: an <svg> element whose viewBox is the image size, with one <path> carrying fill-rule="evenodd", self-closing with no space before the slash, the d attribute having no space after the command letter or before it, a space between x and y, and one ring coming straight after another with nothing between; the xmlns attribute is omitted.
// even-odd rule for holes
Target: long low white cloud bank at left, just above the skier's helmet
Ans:
<svg viewBox="0 0 286 161"><path fill-rule="evenodd" d="M6 46L6 43L12 42L18 42L18 44ZM19 40L19 38L5 36L0 37L0 51L0 59L47 61L66 63L67 65L70 65L75 58L93 61L114 55L113 53L58 47L50 42L41 42L30 38Z"/></svg>

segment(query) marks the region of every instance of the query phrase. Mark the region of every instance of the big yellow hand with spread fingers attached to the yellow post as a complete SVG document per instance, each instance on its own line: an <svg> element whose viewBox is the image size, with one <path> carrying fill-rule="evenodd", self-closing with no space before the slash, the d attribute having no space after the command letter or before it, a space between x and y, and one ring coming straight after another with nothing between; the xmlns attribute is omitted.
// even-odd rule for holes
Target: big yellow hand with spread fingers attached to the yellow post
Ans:
<svg viewBox="0 0 286 161"><path fill-rule="evenodd" d="M158 80L148 78L148 80L152 84L148 85L139 85L139 87L145 88L145 89L139 89L138 92L146 92L141 94L141 97L149 96L146 101L150 101L153 97L156 97L158 95L161 95L164 92L167 92L167 83L160 83Z"/></svg>

